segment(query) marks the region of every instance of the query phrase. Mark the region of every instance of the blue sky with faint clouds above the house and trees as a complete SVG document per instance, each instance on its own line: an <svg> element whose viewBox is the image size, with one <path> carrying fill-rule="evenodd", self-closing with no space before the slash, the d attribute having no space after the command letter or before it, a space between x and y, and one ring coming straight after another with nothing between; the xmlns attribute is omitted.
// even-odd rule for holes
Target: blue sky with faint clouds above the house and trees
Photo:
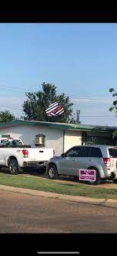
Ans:
<svg viewBox="0 0 117 256"><path fill-rule="evenodd" d="M52 83L83 125L115 125L117 23L0 23L0 111L20 118L25 92Z"/></svg>

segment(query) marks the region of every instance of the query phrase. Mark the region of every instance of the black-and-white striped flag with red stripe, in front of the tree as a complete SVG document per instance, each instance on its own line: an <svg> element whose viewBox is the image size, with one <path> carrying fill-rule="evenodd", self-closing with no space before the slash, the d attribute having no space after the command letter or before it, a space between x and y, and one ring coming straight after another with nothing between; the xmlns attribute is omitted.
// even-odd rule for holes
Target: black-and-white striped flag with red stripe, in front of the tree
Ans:
<svg viewBox="0 0 117 256"><path fill-rule="evenodd" d="M64 113L64 109L61 105L58 104L58 102L55 101L54 103L48 106L45 112L48 115L48 117L52 117Z"/></svg>

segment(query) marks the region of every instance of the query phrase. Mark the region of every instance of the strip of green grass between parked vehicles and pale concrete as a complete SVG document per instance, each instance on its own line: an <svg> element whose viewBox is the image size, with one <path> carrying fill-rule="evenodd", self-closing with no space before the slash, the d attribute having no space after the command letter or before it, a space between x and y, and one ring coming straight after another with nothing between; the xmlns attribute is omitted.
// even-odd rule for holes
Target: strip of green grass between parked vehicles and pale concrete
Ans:
<svg viewBox="0 0 117 256"><path fill-rule="evenodd" d="M97 186L82 186L78 184L55 183L51 179L35 179L35 176L12 176L0 173L0 185L15 186L25 189L36 189L40 191L66 194L72 196L89 196L94 198L117 199L117 189L106 189Z"/></svg>

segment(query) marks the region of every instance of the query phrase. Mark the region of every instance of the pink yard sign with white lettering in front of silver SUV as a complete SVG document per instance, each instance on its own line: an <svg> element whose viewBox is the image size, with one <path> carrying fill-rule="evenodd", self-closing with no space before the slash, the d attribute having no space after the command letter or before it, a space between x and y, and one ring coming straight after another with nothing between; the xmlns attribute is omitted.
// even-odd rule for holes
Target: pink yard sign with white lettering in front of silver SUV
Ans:
<svg viewBox="0 0 117 256"><path fill-rule="evenodd" d="M95 181L95 170L80 169L79 180Z"/></svg>

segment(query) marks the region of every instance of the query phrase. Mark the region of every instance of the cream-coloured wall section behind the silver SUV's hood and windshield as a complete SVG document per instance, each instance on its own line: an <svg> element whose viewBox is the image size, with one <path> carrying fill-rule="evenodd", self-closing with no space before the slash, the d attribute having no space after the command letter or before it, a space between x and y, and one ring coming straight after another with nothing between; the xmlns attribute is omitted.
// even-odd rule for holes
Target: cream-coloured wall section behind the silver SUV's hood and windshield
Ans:
<svg viewBox="0 0 117 256"><path fill-rule="evenodd" d="M64 152L74 145L82 145L82 132L81 131L65 131L65 148Z"/></svg>

